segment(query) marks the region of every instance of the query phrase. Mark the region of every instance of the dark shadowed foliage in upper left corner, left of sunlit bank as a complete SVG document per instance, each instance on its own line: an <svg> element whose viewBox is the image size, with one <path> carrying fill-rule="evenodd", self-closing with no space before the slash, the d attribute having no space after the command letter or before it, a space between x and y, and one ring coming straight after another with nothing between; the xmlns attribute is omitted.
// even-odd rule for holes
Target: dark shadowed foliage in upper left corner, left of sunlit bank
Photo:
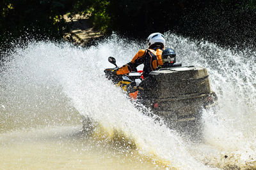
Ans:
<svg viewBox="0 0 256 170"><path fill-rule="evenodd" d="M10 48L17 38L60 39L68 31L63 15L72 0L2 0L0 3L1 48Z"/></svg>

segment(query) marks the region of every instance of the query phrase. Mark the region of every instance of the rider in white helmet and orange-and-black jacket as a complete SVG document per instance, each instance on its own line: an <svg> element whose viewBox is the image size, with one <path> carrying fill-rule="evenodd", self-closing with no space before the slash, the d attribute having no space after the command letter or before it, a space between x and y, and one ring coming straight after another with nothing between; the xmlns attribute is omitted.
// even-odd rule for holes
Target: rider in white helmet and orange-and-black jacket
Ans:
<svg viewBox="0 0 256 170"><path fill-rule="evenodd" d="M156 70L159 66L164 67L162 53L165 50L165 38L163 34L159 32L152 33L148 36L147 41L148 48L145 50L140 50L138 53L136 53L131 62L128 62L124 66L120 67L116 71L116 74L127 74L131 71L137 71L136 67L140 66L140 64L144 64L143 77L146 78L151 71ZM172 49L170 50L172 51L172 55L175 55L175 52ZM169 53L170 50L168 51ZM166 57L166 62L168 62L168 56L166 55ZM171 61L170 57L169 59ZM175 60L173 60L173 63L174 62Z"/></svg>

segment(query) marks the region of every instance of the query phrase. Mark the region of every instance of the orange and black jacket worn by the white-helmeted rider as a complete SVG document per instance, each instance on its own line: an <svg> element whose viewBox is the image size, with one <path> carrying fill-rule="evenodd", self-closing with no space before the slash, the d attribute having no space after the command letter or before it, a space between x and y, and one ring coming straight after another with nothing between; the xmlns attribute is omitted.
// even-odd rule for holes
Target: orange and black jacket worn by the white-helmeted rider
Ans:
<svg viewBox="0 0 256 170"><path fill-rule="evenodd" d="M156 48L155 50L146 49L140 50L136 55L132 58L131 62L125 64L120 67L116 74L127 74L131 71L137 71L136 67L140 66L140 64L144 64L143 67L143 76L144 78L148 76L148 74L156 70L158 66L163 65L162 61L162 53L164 49Z"/></svg>

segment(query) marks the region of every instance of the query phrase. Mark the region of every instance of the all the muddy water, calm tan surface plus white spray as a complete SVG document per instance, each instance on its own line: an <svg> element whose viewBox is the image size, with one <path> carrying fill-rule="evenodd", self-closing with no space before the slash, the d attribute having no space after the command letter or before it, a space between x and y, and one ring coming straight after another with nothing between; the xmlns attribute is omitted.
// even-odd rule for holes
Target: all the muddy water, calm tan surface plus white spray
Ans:
<svg viewBox="0 0 256 170"><path fill-rule="evenodd" d="M209 71L220 110L203 111L203 141L143 115L104 78L109 56L122 66L145 42L31 41L0 68L0 169L256 169L256 53L165 36L177 62Z"/></svg>

